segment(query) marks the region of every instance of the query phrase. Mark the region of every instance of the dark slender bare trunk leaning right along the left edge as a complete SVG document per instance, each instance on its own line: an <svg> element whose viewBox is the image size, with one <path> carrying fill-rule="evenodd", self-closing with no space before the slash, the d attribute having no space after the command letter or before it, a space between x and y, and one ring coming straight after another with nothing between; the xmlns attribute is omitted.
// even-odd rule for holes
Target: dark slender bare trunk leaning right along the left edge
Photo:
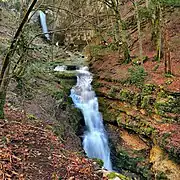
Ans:
<svg viewBox="0 0 180 180"><path fill-rule="evenodd" d="M29 14L32 11L32 9L36 3L37 3L37 0L33 0L31 5L29 6L29 9L27 10L21 24L19 25L19 28L17 29L17 31L14 35L14 38L11 42L11 46L9 48L9 51L6 54L4 61L3 61L2 69L0 72L0 118L4 118L3 107L4 107L5 99L6 99L6 90L7 90L8 84L9 84L9 77L8 76L9 76L10 61L11 61L10 59L16 51L17 41L21 35L22 29L23 29L25 23L28 20Z"/></svg>

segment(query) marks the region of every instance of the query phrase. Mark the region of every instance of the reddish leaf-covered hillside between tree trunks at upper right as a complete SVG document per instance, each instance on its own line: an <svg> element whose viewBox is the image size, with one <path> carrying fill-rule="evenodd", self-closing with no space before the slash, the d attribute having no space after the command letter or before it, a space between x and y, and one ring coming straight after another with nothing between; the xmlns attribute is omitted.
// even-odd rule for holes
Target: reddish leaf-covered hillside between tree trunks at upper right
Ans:
<svg viewBox="0 0 180 180"><path fill-rule="evenodd" d="M166 14L166 30L168 34L168 45L170 49L171 69L172 74L165 74L164 57L158 62L155 60L156 49L151 41L151 27L149 24L142 29L142 44L143 56L147 60L143 63L143 68L147 72L144 83L152 83L163 86L166 90L171 92L180 92L180 11L174 9ZM130 30L131 31L131 30ZM124 81L129 77L129 69L134 66L134 60L137 61L139 56L139 42L136 32L133 32L130 37L130 42L133 46L130 49L132 62L123 64L123 57L117 51L100 53L99 59L94 58L91 61L92 70L100 79L112 79L117 81ZM102 55L102 56L101 56Z"/></svg>

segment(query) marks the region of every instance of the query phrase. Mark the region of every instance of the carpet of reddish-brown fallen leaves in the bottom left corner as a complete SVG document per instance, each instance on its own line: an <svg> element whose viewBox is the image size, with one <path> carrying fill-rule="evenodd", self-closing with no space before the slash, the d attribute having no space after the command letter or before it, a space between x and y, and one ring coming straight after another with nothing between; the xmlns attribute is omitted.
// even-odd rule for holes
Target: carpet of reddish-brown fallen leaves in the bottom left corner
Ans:
<svg viewBox="0 0 180 180"><path fill-rule="evenodd" d="M5 110L6 119L0 120L0 179L103 179L95 162L66 148L52 132L52 123Z"/></svg>

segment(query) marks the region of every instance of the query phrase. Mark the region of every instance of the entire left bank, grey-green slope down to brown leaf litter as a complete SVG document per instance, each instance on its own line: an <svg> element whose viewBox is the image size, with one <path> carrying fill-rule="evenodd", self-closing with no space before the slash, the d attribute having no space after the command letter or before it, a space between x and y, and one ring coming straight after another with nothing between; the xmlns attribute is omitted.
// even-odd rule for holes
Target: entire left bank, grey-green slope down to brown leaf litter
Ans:
<svg viewBox="0 0 180 180"><path fill-rule="evenodd" d="M0 66L18 15L0 7ZM30 26L27 39L41 32ZM102 173L95 172L98 165L85 158L76 135L81 115L68 97L75 74L53 71L69 54L55 48L57 61L49 62L49 44L36 38L32 46L25 71L13 76L7 90L5 119L0 120L0 179L101 179ZM12 66L20 56L15 54Z"/></svg>

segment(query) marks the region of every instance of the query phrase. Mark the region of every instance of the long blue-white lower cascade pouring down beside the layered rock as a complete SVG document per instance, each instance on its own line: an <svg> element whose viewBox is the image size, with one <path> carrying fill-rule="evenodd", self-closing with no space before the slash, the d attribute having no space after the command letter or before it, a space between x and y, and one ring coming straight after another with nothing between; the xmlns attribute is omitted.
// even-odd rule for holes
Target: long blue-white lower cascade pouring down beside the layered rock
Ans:
<svg viewBox="0 0 180 180"><path fill-rule="evenodd" d="M104 129L98 99L92 90L92 74L84 67L78 71L77 84L71 89L71 98L84 116L87 130L83 135L83 147L88 157L103 160L104 167L112 170L108 138Z"/></svg>

